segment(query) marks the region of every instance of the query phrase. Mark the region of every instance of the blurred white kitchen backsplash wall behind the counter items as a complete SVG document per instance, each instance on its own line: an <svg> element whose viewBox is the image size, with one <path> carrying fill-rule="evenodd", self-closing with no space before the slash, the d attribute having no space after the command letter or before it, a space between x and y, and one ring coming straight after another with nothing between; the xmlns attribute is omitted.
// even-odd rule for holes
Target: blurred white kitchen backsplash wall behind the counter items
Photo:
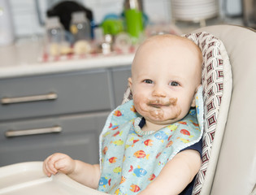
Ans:
<svg viewBox="0 0 256 195"><path fill-rule="evenodd" d="M15 36L33 36L44 33L40 23L46 19L46 10L58 0L11 0ZM96 24L102 22L107 14L119 15L123 11L123 0L78 0L93 11ZM154 23L168 23L171 20L171 2L169 0L145 0L143 2L145 14ZM38 17L39 15L39 17ZM41 21L40 21L41 19Z"/></svg>

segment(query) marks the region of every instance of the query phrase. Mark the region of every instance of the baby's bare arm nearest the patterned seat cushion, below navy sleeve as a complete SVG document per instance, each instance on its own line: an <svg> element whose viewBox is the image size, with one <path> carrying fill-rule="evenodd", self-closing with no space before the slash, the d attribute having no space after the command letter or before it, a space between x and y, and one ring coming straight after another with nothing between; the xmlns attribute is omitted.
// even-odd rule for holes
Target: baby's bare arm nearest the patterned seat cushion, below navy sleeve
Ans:
<svg viewBox="0 0 256 195"><path fill-rule="evenodd" d="M200 154L196 150L184 150L176 154L155 180L139 195L181 193L196 176L201 166Z"/></svg>

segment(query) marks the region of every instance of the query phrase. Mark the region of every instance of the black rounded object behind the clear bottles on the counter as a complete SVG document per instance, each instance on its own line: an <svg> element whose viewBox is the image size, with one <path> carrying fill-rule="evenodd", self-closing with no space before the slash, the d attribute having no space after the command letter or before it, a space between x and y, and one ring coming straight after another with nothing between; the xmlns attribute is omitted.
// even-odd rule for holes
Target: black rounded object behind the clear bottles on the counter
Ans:
<svg viewBox="0 0 256 195"><path fill-rule="evenodd" d="M65 1L60 2L47 11L47 16L59 16L61 24L65 30L70 31L70 22L72 20L72 12L85 11L91 26L93 26L93 12L78 2Z"/></svg>

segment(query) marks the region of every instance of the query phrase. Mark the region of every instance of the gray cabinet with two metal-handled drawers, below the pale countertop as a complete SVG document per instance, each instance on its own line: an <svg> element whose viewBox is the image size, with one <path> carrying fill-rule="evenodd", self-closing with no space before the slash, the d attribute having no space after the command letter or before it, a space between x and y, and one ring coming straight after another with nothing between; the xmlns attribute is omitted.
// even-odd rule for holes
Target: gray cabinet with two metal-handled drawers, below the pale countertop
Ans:
<svg viewBox="0 0 256 195"><path fill-rule="evenodd" d="M116 67L0 80L0 167L55 152L98 163L98 136L128 76Z"/></svg>

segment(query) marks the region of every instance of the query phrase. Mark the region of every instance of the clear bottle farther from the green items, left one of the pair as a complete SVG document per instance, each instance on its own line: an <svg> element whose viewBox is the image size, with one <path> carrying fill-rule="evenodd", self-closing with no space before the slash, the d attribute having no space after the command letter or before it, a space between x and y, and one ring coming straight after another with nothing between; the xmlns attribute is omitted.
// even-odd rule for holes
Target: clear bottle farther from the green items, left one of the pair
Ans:
<svg viewBox="0 0 256 195"><path fill-rule="evenodd" d="M64 42L64 29L59 22L58 16L53 16L46 20L46 37L48 54L59 55Z"/></svg>

